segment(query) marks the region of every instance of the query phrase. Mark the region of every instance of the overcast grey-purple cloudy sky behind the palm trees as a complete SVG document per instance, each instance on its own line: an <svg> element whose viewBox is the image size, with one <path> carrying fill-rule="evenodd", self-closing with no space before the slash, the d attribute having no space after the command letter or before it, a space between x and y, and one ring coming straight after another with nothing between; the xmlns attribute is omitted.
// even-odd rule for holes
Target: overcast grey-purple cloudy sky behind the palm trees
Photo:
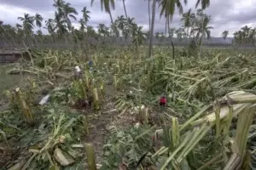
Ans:
<svg viewBox="0 0 256 170"><path fill-rule="evenodd" d="M79 12L78 19L82 17L81 10L84 6L90 10L90 21L88 25L97 26L99 23L109 25L109 15L101 10L100 0L95 0L93 7L90 7L90 0L66 0L71 3ZM195 9L196 0L189 0L189 4L184 6L184 11L189 8ZM0 0L0 20L5 24L15 25L20 21L19 16L24 13L42 14L44 20L54 18L55 8L53 0ZM137 24L148 30L148 3L145 0L126 0L126 10L130 17L136 19ZM113 19L118 15L124 14L124 8L121 0L117 0L113 10ZM256 0L211 0L210 7L205 13L212 15L210 26L214 27L212 37L220 37L225 30L232 33L241 28L241 26L256 27ZM181 17L175 14L171 27L181 26ZM74 23L74 26L78 24ZM165 31L165 20L160 20L160 12L157 10L155 18L155 31Z"/></svg>

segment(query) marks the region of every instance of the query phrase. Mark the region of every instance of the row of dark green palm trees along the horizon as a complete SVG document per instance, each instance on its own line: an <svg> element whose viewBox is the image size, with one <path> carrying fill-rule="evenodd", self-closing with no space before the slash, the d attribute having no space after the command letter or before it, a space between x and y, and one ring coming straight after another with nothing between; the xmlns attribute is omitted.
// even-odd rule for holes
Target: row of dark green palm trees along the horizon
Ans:
<svg viewBox="0 0 256 170"><path fill-rule="evenodd" d="M183 5L179 0L148 0L148 24L149 31L143 31L143 26L138 26L134 18L129 17L125 8L125 0L122 0L125 15L120 15L113 20L112 10L115 8L114 0L101 0L102 10L105 10L110 17L110 25L99 24L96 29L88 25L90 20L90 11L87 7L82 8L82 18L78 19L78 11L72 7L71 3L63 0L54 0L55 17L44 20L41 14L24 14L18 17L21 24L15 26L5 25L0 21L0 38L2 45L26 43L33 46L44 43L63 43L84 44L91 42L131 42L139 46L144 42L149 42L149 50L152 50L153 37L159 42L170 42L173 37L177 37L178 42L195 41L199 46L202 45L204 38L211 38L210 26L211 16L204 13L204 9L210 5L209 0L196 1L195 8L201 4L201 8L196 13L190 8L187 12L183 12ZM91 0L93 5L94 0ZM166 19L166 29L163 32L154 33L154 17L155 8L158 3L160 8L160 17ZM183 1L187 4L187 1ZM172 16L178 9L181 14L183 26L174 28L171 26ZM79 21L79 28L73 26L73 21ZM43 34L46 29L49 34ZM37 30L37 31L36 31ZM229 35L229 31L224 31L222 37L225 39ZM150 38L152 37L152 38ZM240 31L234 33L234 44L253 44L255 43L255 28L244 26Z"/></svg>

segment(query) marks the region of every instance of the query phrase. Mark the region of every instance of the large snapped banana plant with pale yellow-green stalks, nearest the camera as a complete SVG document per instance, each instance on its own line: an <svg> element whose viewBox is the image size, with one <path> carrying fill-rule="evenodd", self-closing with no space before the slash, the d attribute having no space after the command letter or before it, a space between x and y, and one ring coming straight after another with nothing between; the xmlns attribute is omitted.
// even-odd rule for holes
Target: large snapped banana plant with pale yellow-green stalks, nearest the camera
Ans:
<svg viewBox="0 0 256 170"><path fill-rule="evenodd" d="M231 143L231 150L233 154L230 156L230 160L225 165L224 170L233 170L237 167L241 167L243 164L243 157L247 151L246 145L249 127L252 124L253 113L256 108L256 105L253 105L256 103L256 95L237 91L227 94L223 99L221 99L221 101L223 102L222 105L212 104L203 108L195 114L195 116L191 117L188 122L183 123L181 126L177 126L177 120L173 119L173 145L170 147L161 147L160 150L156 151L152 156L152 158L158 159L162 156L167 156L166 161L164 161L160 167L161 170L165 170L170 166L173 167L173 161L177 165L181 166L181 163L186 161L186 157L189 155L189 152L199 144L201 139L209 133L212 127L215 126L216 136L218 138L221 135L227 137L226 132L230 129L230 120L236 117L238 117L236 136L234 138L234 142ZM202 114L207 113L212 106L215 106L215 111L197 119ZM189 128L193 129L188 130ZM156 133L157 136L164 135L163 130L158 130Z"/></svg>

